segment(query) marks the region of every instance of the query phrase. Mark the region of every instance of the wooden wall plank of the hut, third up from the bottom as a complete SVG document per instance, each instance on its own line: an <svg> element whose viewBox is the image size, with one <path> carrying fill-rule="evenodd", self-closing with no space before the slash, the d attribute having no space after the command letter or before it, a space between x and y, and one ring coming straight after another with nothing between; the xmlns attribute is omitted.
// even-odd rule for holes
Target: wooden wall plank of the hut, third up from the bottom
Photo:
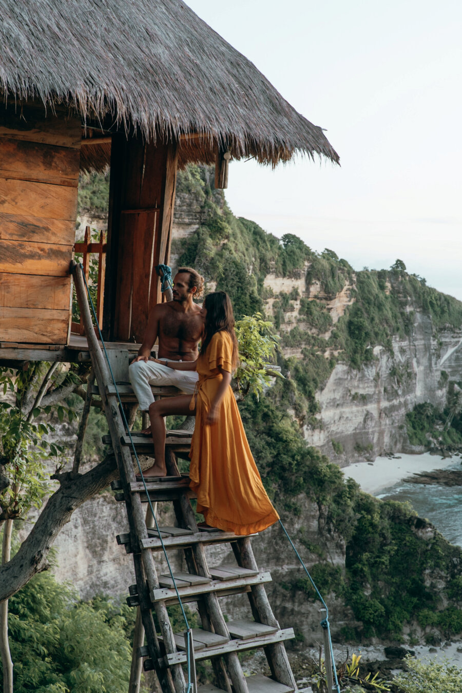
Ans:
<svg viewBox="0 0 462 693"><path fill-rule="evenodd" d="M71 245L0 240L0 272L68 277Z"/></svg>

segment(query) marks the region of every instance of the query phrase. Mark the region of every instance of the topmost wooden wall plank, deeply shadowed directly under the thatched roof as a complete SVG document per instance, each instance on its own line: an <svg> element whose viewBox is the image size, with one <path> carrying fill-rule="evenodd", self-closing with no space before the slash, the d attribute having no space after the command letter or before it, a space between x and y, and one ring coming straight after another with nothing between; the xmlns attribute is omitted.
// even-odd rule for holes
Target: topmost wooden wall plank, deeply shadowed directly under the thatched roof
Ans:
<svg viewBox="0 0 462 693"><path fill-rule="evenodd" d="M42 142L60 147L80 148L82 123L80 118L66 118L63 113L53 116L44 108L8 105L0 108L0 137Z"/></svg>

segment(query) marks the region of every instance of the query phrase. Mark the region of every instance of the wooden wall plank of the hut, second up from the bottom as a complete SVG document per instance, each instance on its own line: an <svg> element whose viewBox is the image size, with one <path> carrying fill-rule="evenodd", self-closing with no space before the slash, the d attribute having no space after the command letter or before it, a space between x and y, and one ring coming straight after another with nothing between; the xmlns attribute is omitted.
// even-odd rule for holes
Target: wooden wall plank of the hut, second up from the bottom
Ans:
<svg viewBox="0 0 462 693"><path fill-rule="evenodd" d="M71 277L37 277L0 272L0 306L69 310Z"/></svg>

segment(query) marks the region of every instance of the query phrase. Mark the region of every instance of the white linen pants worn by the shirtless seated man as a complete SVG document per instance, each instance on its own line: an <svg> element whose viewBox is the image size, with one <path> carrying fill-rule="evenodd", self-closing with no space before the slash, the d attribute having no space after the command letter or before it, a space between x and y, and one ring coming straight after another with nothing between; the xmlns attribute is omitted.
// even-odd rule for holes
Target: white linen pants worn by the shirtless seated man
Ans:
<svg viewBox="0 0 462 693"><path fill-rule="evenodd" d="M150 385L175 385L186 394L193 394L199 375L197 371L175 371L155 361L136 361L128 369L130 383L136 394L139 408L147 412L154 402Z"/></svg>

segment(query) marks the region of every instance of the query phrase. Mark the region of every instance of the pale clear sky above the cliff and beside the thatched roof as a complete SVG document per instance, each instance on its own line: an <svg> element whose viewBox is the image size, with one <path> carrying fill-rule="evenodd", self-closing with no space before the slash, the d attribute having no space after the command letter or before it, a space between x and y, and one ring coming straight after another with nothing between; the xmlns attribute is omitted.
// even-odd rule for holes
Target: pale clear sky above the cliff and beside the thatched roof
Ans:
<svg viewBox="0 0 462 693"><path fill-rule="evenodd" d="M186 0L308 120L341 167L232 162L226 198L276 236L462 300L461 0Z"/></svg>

